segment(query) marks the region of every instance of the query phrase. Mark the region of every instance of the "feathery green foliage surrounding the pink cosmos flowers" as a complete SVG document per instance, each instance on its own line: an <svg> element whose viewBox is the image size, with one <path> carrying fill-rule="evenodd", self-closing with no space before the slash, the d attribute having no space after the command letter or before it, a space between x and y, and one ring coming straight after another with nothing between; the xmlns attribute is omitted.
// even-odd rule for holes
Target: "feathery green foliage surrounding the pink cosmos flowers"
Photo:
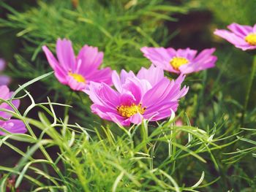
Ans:
<svg viewBox="0 0 256 192"><path fill-rule="evenodd" d="M6 186L12 191L253 191L253 53L209 36L218 48L217 67L186 78L189 93L176 118L124 128L93 115L86 94L61 85L41 47L48 45L54 53L56 39L65 37L76 53L85 44L99 47L105 53L103 66L138 72L150 66L140 47L171 47L179 35L181 28L168 28L178 22L174 15L210 9L212 32L232 22L254 24L255 1L79 2L74 7L71 1L38 1L25 12L0 2L8 12L0 18L0 39L4 46L18 42L7 53L13 55L7 70L12 90L21 98L13 115L29 129L28 134L0 137L0 157L6 159L0 161L0 191ZM16 37L8 39L10 31ZM176 120L184 126L176 126Z"/></svg>

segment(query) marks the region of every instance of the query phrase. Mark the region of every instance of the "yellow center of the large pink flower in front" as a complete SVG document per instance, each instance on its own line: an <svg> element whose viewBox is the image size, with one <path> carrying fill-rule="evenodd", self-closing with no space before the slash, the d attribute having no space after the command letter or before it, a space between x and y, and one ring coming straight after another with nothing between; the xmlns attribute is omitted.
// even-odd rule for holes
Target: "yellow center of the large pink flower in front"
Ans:
<svg viewBox="0 0 256 192"><path fill-rule="evenodd" d="M130 106L127 105L121 105L116 107L116 110L119 112L119 114L124 118L129 118L132 115L135 115L136 113L140 112L141 115L146 111L146 107L142 107L141 104L132 104Z"/></svg>

